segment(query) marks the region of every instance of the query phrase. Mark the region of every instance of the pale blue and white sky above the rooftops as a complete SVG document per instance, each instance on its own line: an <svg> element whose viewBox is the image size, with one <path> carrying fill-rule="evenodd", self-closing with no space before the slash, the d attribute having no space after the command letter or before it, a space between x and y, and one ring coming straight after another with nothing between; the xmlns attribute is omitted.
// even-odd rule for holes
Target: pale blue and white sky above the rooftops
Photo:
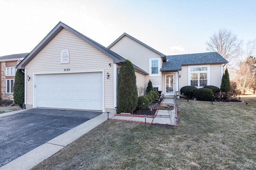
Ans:
<svg viewBox="0 0 256 170"><path fill-rule="evenodd" d="M126 32L165 55L204 53L218 29L256 39L255 0L0 0L0 56L29 53L62 21L107 47Z"/></svg>

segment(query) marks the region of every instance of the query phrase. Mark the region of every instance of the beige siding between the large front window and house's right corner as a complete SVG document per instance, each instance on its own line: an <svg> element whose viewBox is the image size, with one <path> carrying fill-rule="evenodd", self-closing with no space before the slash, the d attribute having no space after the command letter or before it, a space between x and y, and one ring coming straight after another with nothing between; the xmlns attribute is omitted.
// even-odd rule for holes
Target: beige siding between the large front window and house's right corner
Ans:
<svg viewBox="0 0 256 170"><path fill-rule="evenodd" d="M222 70L222 64L212 64L210 65L210 84L211 86L216 86L220 88L221 85L221 70Z"/></svg>

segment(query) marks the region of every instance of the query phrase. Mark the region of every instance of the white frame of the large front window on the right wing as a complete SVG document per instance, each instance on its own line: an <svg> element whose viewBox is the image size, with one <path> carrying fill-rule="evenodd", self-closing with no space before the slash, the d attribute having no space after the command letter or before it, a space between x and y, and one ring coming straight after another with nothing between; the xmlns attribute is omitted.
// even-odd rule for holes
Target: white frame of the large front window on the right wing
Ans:
<svg viewBox="0 0 256 170"><path fill-rule="evenodd" d="M198 68L198 67L207 67L206 71L190 71L191 68ZM188 66L188 86L191 86L191 73L198 73L198 86L195 86L196 88L202 88L204 86L200 86L200 73L207 73L207 86L210 85L210 65L194 65L194 66Z"/></svg>

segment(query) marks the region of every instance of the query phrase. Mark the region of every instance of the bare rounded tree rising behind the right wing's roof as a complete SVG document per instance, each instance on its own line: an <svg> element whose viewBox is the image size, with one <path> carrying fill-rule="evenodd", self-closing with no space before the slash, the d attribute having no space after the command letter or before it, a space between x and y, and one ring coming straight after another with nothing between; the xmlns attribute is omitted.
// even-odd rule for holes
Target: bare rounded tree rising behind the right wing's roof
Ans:
<svg viewBox="0 0 256 170"><path fill-rule="evenodd" d="M206 50L217 52L228 60L237 55L241 42L230 30L219 29L218 33L214 33L210 40L206 41Z"/></svg>

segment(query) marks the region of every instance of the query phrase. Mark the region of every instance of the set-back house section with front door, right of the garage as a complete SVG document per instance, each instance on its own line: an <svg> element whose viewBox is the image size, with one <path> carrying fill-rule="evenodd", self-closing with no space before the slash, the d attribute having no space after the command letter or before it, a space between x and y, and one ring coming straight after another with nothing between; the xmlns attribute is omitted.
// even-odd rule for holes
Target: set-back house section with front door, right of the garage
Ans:
<svg viewBox="0 0 256 170"><path fill-rule="evenodd" d="M174 95L184 86L220 88L223 66L228 63L215 52L166 56L127 33L108 48L148 72L144 88L151 80L153 89L164 96Z"/></svg>

